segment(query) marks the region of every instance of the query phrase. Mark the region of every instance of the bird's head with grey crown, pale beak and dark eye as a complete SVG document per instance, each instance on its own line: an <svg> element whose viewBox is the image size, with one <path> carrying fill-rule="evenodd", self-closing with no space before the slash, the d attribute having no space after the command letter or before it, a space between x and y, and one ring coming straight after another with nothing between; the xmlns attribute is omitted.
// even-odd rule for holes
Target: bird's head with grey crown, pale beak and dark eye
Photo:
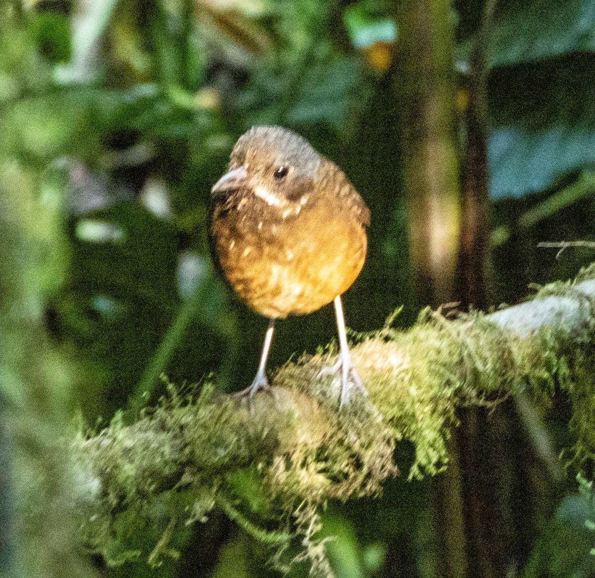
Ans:
<svg viewBox="0 0 595 578"><path fill-rule="evenodd" d="M322 157L302 137L281 127L253 127L230 156L229 169L211 189L213 197L248 191L270 206L305 203L314 190Z"/></svg>

